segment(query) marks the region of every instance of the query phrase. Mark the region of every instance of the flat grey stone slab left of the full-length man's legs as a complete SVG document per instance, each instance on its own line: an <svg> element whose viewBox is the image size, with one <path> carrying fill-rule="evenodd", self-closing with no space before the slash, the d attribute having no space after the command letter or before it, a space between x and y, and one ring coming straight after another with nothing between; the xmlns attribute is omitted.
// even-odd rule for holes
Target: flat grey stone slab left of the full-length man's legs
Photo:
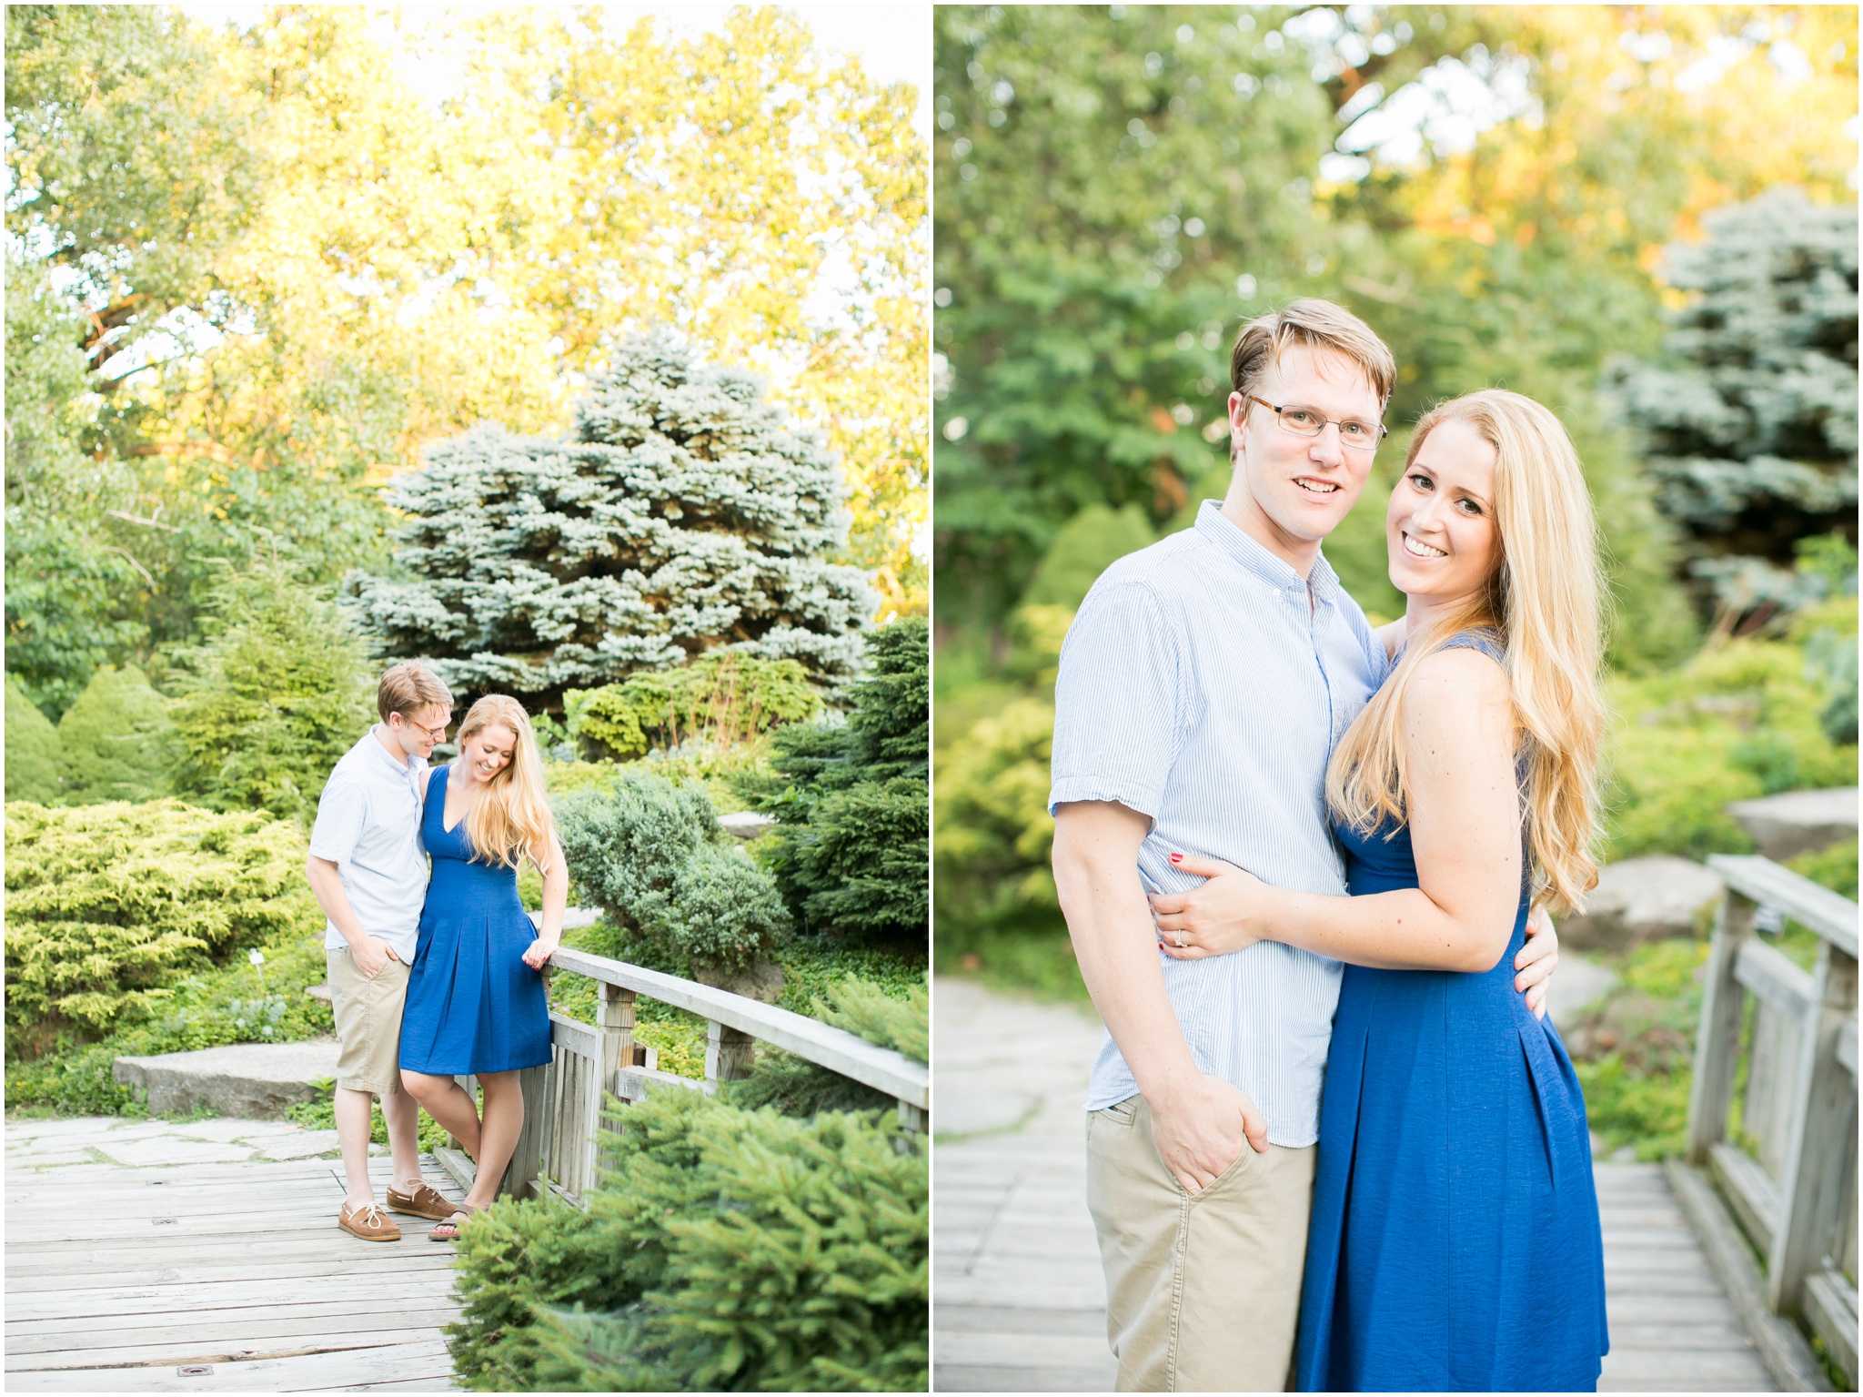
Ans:
<svg viewBox="0 0 1863 1397"><path fill-rule="evenodd" d="M272 1119L298 1101L315 1101L311 1082L337 1075L337 1041L233 1043L196 1052L117 1058L110 1075L145 1093L156 1116Z"/></svg>

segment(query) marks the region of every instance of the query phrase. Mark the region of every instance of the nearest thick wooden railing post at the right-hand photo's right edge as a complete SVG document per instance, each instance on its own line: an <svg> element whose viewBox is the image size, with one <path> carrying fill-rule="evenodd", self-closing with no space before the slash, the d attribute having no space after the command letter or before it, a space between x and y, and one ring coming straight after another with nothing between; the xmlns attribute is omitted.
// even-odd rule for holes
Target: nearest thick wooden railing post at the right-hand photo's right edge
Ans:
<svg viewBox="0 0 1863 1397"><path fill-rule="evenodd" d="M1779 1172L1779 1231L1766 1257L1766 1304L1774 1313L1796 1309L1805 1276L1822 1267L1826 1252L1839 1250L1831 1241L1856 1110L1856 1080L1837 1062L1837 1038L1857 1008L1856 959L1829 941L1820 943L1813 983L1790 1082L1792 1131Z"/></svg>

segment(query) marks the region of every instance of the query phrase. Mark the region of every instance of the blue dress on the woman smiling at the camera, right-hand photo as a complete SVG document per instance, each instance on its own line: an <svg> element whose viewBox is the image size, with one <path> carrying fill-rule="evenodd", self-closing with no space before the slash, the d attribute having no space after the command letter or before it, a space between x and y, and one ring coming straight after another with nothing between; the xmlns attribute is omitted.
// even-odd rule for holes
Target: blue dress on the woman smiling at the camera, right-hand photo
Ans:
<svg viewBox="0 0 1863 1397"><path fill-rule="evenodd" d="M1500 659L1485 635L1451 644ZM1418 887L1410 831L1336 829L1353 896ZM1390 834L1390 838L1386 838ZM1610 1350L1585 1101L1492 970L1347 965L1321 1101L1300 1391L1593 1391Z"/></svg>

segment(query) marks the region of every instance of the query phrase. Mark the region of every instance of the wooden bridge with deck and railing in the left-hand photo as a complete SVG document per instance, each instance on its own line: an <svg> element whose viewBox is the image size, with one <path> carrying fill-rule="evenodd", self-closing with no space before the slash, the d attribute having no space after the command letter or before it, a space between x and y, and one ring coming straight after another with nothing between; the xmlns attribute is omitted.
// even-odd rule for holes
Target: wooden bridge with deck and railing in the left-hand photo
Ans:
<svg viewBox="0 0 1863 1397"><path fill-rule="evenodd" d="M771 1043L900 1101L922 1129L922 1064L788 1010L574 950L553 965L600 982L600 1021L551 1013L553 1060L524 1077L525 1129L503 1190L579 1201L592 1183L607 1095L658 1086L712 1090L743 1077ZM710 1023L706 1080L654 1071L633 1043L639 995ZM69 1121L69 1138L134 1134L123 1121ZM233 1138L240 1123L209 1121ZM164 1129L151 1123L149 1129ZM276 1127L274 1127L276 1129ZM52 1133L48 1133L52 1134ZM335 1226L341 1166L304 1159L134 1168L41 1153L6 1181L6 1386L13 1391L438 1391L451 1386L443 1326L453 1248L404 1218L399 1242L358 1242ZM119 1149L127 1160L132 1149ZM171 1151L173 1153L173 1151ZM186 1151L183 1151L186 1153ZM250 1151L248 1151L250 1153ZM436 1160L427 1160L434 1164ZM428 1181L458 1196L471 1160L440 1151ZM376 1198L388 1162L371 1168ZM447 1179L447 1173L453 1179Z"/></svg>

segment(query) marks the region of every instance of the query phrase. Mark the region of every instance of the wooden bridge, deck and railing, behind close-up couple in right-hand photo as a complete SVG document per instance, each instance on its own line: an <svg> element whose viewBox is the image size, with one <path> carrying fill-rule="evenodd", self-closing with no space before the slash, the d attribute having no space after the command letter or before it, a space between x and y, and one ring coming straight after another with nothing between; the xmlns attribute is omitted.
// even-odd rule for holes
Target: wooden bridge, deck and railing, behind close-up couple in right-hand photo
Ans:
<svg viewBox="0 0 1863 1397"><path fill-rule="evenodd" d="M1716 868L1733 892L1710 959L1692 1131L1770 1270L1699 1170L1598 1160L1611 1330L1600 1390L1829 1390L1800 1317L1854 1388L1857 909L1764 859ZM1816 972L1749 937L1755 903L1818 931ZM1761 1002L1744 1036L1740 991ZM1081 1116L1101 1028L952 980L939 982L933 1013L932 1384L1107 1391ZM1721 1138L1736 1065L1757 1155Z"/></svg>

